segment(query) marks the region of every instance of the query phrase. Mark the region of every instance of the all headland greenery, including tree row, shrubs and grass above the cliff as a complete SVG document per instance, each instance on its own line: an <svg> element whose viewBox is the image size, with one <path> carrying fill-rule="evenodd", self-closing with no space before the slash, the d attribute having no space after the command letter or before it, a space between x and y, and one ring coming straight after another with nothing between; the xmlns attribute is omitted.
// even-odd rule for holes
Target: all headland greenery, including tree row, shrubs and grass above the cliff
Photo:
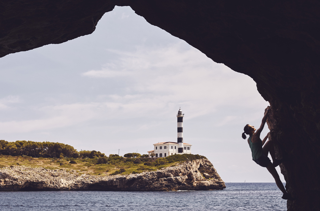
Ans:
<svg viewBox="0 0 320 211"><path fill-rule="evenodd" d="M154 155L155 156L155 155ZM100 151L77 151L68 144L58 142L7 142L0 140L0 168L24 165L47 169L65 169L76 174L117 175L156 171L177 163L205 158L200 155L172 155L152 157L147 154L127 153L123 156Z"/></svg>

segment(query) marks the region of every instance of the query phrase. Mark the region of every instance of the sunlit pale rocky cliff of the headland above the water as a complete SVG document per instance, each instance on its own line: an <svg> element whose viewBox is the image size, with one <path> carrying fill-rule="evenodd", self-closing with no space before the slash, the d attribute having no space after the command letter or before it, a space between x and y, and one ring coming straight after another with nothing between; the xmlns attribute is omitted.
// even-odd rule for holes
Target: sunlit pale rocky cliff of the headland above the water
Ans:
<svg viewBox="0 0 320 211"><path fill-rule="evenodd" d="M225 183L207 159L189 161L158 171L105 177L26 166L0 169L0 191L177 191L224 188Z"/></svg>

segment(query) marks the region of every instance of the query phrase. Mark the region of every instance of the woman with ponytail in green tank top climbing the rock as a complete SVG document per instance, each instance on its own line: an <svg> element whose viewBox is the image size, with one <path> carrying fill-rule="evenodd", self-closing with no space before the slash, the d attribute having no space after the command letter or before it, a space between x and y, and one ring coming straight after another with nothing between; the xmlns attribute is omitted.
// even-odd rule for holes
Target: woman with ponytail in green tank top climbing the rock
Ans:
<svg viewBox="0 0 320 211"><path fill-rule="evenodd" d="M268 171L271 173L271 175L275 179L276 185L283 193L283 196L281 198L286 200L293 200L292 196L286 192L280 180L279 174L276 171L275 167L281 164L282 160L276 159L272 140L267 141L269 133L266 135L266 137L264 137L262 141L260 139L260 134L261 134L261 131L263 130L264 125L266 124L269 110L270 110L270 106L267 107L267 110L264 114L264 117L262 118L262 122L259 129L256 130L256 128L254 128L251 125L246 125L244 127L244 133L242 133L242 138L246 139L247 136L245 134L249 135L248 144L252 152L252 160L257 164L259 164L260 166L266 167L268 169ZM271 163L271 160L268 158L268 153L270 153L273 163Z"/></svg>

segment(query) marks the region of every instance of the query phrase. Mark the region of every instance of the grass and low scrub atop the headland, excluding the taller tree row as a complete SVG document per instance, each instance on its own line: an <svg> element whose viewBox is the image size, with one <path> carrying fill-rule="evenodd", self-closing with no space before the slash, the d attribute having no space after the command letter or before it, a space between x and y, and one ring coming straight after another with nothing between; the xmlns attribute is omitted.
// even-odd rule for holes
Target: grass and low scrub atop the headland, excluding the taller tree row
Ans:
<svg viewBox="0 0 320 211"><path fill-rule="evenodd" d="M0 168L13 166L44 167L47 169L64 169L74 174L117 175L136 174L143 171L175 166L176 164L205 158L204 156L183 154L161 158L125 158L118 155L94 158L34 158L31 156L0 155Z"/></svg>

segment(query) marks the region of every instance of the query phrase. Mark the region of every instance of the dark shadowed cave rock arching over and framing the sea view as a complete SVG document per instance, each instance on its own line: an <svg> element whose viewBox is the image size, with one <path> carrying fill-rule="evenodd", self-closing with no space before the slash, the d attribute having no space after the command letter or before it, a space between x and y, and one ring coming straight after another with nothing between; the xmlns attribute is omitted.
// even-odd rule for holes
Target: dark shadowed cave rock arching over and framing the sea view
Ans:
<svg viewBox="0 0 320 211"><path fill-rule="evenodd" d="M288 210L320 210L320 3L8 0L0 3L0 57L90 34L115 5L252 77L272 107L267 124L296 198Z"/></svg>

